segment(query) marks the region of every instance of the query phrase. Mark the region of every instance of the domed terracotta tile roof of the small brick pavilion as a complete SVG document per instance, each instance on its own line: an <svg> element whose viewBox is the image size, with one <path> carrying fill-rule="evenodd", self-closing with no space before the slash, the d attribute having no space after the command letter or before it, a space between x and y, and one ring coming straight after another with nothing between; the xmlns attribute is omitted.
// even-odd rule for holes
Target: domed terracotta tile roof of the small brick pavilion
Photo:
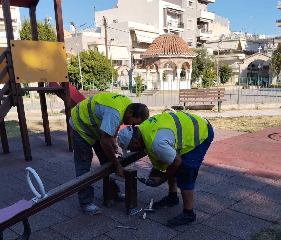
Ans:
<svg viewBox="0 0 281 240"><path fill-rule="evenodd" d="M151 55L196 56L197 54L194 53L178 35L166 33L154 39L148 49L140 56L145 57Z"/></svg>

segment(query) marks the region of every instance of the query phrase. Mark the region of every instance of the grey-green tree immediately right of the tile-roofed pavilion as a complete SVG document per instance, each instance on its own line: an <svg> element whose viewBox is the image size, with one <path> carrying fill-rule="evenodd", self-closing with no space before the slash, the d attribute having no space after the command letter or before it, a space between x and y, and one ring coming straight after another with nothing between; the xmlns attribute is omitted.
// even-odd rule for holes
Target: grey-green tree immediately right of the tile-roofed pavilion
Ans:
<svg viewBox="0 0 281 240"><path fill-rule="evenodd" d="M192 59L192 79L196 80L197 78L201 77L206 70L206 47L194 48L192 49L197 56ZM214 62L210 55L207 55L207 68L214 67Z"/></svg>

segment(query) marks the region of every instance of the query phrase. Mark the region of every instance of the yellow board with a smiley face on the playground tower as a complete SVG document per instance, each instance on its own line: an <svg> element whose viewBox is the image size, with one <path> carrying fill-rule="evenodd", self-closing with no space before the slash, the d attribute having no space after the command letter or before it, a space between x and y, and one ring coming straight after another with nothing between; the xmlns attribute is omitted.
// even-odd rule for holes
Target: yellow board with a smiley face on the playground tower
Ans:
<svg viewBox="0 0 281 240"><path fill-rule="evenodd" d="M10 42L16 83L68 81L65 43Z"/></svg>

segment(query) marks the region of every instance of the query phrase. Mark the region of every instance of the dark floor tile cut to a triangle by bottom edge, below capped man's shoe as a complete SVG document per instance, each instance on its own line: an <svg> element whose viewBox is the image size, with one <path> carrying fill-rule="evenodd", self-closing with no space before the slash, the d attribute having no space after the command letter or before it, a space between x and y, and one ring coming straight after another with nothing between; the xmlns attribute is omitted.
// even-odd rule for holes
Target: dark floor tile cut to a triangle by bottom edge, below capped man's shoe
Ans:
<svg viewBox="0 0 281 240"><path fill-rule="evenodd" d="M176 236L171 240L194 240L194 236L196 236L196 240L238 240L239 238L226 234L224 232L218 231L214 228L207 227L205 225L199 224L183 234Z"/></svg>

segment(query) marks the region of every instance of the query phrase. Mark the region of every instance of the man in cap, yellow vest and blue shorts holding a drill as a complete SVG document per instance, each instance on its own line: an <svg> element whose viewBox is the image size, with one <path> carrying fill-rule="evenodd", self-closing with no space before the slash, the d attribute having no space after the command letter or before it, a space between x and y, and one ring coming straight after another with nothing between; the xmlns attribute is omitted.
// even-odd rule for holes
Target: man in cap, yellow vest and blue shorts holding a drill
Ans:
<svg viewBox="0 0 281 240"><path fill-rule="evenodd" d="M183 211L169 219L168 226L196 223L194 183L213 139L214 130L207 119L183 112L158 114L138 127L119 132L117 142L124 152L146 151L153 166L149 177L156 186L168 181L168 196L155 202L153 208L180 206L177 187L180 188Z"/></svg>

